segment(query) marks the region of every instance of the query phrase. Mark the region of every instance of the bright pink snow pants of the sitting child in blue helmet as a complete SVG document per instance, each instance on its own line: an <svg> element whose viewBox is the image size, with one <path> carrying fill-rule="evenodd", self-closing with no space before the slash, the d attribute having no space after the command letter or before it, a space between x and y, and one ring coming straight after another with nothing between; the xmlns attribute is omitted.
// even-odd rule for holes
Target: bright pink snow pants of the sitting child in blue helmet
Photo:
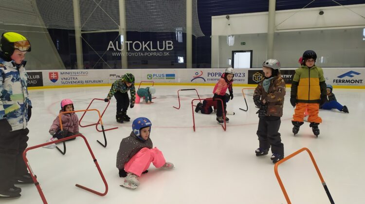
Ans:
<svg viewBox="0 0 365 204"><path fill-rule="evenodd" d="M124 170L141 176L142 172L153 164L156 168L161 168L166 163L164 155L156 147L153 149L142 148L124 165Z"/></svg>

